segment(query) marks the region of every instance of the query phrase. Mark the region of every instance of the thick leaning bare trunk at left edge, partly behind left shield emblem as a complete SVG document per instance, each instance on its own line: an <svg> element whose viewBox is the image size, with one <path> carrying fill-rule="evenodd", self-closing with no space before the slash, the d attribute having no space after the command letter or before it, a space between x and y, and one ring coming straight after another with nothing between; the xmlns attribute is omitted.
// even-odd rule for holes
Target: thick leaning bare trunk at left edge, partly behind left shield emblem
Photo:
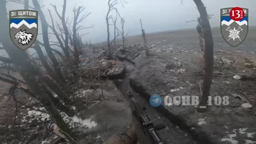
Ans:
<svg viewBox="0 0 256 144"><path fill-rule="evenodd" d="M8 21L7 19L7 10L6 10L6 1L0 1L0 14L3 21ZM9 37L6 37L9 35L9 30L7 29L8 23L7 22L1 22L0 23L0 31L2 35L0 35L0 41L2 42L2 45L9 55L9 57L12 59L14 65L18 68L21 76L26 81L27 85L29 86L29 89L35 93L35 95L38 95L38 100L43 104L45 109L48 111L48 113L53 118L54 122L60 127L60 129L67 134L69 134L71 137L74 136L74 134L71 132L71 130L68 127L68 124L66 124L62 117L59 114L58 109L55 107L53 102L51 101L49 95L47 95L42 90L43 82L41 81L41 76L39 75L36 68L30 63L30 58L28 57L27 53L17 49L17 47L10 43Z"/></svg>

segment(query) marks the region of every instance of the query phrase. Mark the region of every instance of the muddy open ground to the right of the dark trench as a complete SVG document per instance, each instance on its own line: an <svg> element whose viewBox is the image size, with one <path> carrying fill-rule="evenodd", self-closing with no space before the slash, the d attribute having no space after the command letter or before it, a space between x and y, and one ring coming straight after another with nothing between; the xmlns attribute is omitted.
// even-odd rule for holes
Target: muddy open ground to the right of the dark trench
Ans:
<svg viewBox="0 0 256 144"><path fill-rule="evenodd" d="M196 112L194 106L162 106L155 108L173 124L188 132L197 143L255 143L255 29L251 28L245 42L231 47L223 41L218 29L213 29L214 72L211 89L214 98L228 98L229 105L210 106L207 113ZM201 97L204 63L195 30L169 31L147 35L151 47L146 57L139 45L133 43L116 52L119 57L132 59L130 86L149 100L153 94L164 97L198 95ZM135 45L134 45L135 44ZM125 83L125 82L124 82ZM170 135L168 135L170 137ZM167 136L167 137L168 137ZM175 141L172 141L175 142ZM184 143L185 141L181 142Z"/></svg>

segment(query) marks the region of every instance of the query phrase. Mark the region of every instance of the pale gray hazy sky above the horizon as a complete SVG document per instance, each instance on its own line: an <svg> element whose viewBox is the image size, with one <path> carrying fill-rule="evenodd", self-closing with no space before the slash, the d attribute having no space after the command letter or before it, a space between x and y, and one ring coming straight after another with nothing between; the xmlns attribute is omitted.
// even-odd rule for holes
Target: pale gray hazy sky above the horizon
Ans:
<svg viewBox="0 0 256 144"><path fill-rule="evenodd" d="M29 0L31 2L31 0ZM143 27L146 33L153 33L156 31L174 30L174 29L185 29L195 28L196 22L185 22L188 20L196 20L199 13L196 10L196 5L193 0L183 0L181 5L180 0L126 0L128 3L117 5L119 13L125 19L125 31L129 31L129 36L138 35L141 33L140 21L142 19ZM209 14L214 14L210 20L212 27L218 27L220 25L220 9L225 7L244 7L249 9L249 26L256 25L256 6L255 0L202 0L207 7ZM102 42L106 41L107 30L106 30L106 13L108 11L108 0L68 0L67 15L69 18L73 18L73 7L84 6L85 13L92 12L87 17L82 26L94 25L92 29L85 29L81 31L81 34L90 33L83 36L84 41ZM50 4L55 4L58 7L59 12L62 10L62 0L43 0L45 7L43 8L46 18L49 18L47 9L51 9ZM10 3L11 4L11 3ZM31 3L30 3L31 4ZM12 7L8 6L9 10L20 8L20 5ZM55 14L54 11L53 15ZM58 18L55 17L58 21ZM119 23L118 23L119 24ZM118 25L119 26L119 25ZM112 31L112 30L111 30Z"/></svg>

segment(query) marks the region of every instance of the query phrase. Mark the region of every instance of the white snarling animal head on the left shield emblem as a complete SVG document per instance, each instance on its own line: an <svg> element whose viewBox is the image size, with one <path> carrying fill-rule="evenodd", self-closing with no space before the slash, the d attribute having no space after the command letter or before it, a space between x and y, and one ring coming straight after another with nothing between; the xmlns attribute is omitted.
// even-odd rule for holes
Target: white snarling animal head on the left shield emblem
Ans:
<svg viewBox="0 0 256 144"><path fill-rule="evenodd" d="M20 30L15 35L15 39L19 41L19 44L28 45L28 43L31 41L33 36L34 36L33 34L26 33L26 30L23 30L23 31Z"/></svg>

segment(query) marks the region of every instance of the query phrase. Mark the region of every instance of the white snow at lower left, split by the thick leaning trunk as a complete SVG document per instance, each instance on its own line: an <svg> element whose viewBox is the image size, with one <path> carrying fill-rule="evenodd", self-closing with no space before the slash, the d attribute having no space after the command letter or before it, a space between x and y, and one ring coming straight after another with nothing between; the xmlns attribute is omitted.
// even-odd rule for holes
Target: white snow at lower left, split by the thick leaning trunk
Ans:
<svg viewBox="0 0 256 144"><path fill-rule="evenodd" d="M39 108L42 111L45 111L45 108L41 107ZM60 112L61 117L63 120L69 125L69 127L85 127L85 128L93 128L97 126L97 123L92 121L91 119L93 118L90 117L88 119L82 119L77 116L69 117L66 113ZM46 121L50 119L50 115L46 113L42 113L41 111L36 111L36 110L28 110L28 115L24 116L22 119L22 122L26 121L33 121L34 119L37 119L38 121Z"/></svg>

